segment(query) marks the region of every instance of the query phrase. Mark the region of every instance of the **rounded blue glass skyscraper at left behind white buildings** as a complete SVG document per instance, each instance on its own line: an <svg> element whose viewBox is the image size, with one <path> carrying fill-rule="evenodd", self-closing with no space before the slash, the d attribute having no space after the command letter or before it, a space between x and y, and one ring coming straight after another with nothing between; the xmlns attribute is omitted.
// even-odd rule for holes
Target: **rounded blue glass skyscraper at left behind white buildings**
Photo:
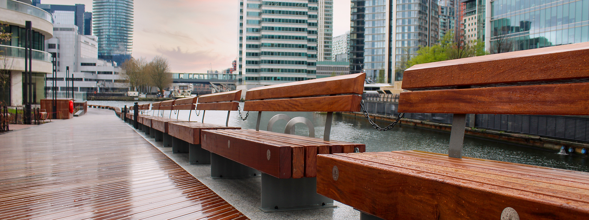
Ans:
<svg viewBox="0 0 589 220"><path fill-rule="evenodd" d="M131 57L133 0L94 0L98 58L119 65Z"/></svg>

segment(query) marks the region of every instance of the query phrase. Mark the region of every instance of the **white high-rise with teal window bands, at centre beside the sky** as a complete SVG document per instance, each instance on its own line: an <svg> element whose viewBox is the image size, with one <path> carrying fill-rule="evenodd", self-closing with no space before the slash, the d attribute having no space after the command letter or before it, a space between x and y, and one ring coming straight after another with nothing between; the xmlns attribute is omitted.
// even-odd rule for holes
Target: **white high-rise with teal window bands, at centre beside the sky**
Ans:
<svg viewBox="0 0 589 220"><path fill-rule="evenodd" d="M316 78L332 56L330 0L240 1L238 89Z"/></svg>

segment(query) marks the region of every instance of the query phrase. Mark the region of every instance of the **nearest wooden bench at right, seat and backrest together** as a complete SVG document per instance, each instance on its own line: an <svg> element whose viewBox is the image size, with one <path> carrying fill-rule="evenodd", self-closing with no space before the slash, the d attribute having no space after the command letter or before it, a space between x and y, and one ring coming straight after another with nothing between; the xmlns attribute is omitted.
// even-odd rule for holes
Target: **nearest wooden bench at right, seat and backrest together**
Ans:
<svg viewBox="0 0 589 220"><path fill-rule="evenodd" d="M318 155L317 192L366 219L588 219L589 173L461 157L466 114L589 115L589 43L415 65L399 112L452 113L449 155Z"/></svg>

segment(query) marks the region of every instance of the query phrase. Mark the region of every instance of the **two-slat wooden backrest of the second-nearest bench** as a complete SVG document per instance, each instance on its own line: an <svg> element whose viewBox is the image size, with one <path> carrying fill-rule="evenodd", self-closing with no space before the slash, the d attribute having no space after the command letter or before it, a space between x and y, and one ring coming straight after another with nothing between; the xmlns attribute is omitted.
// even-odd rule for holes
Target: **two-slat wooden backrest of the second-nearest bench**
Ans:
<svg viewBox="0 0 589 220"><path fill-rule="evenodd" d="M365 73L250 89L245 111L360 111Z"/></svg>

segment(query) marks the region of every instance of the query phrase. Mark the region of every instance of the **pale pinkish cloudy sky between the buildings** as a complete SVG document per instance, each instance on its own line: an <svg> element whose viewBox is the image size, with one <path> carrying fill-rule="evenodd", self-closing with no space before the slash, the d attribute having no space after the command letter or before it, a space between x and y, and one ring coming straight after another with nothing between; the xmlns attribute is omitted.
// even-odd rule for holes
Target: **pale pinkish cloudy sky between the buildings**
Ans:
<svg viewBox="0 0 589 220"><path fill-rule="evenodd" d="M231 67L237 56L239 0L134 1L133 57L163 56L174 73L206 73ZM92 0L41 0L86 5ZM333 1L333 36L349 31L350 1Z"/></svg>

